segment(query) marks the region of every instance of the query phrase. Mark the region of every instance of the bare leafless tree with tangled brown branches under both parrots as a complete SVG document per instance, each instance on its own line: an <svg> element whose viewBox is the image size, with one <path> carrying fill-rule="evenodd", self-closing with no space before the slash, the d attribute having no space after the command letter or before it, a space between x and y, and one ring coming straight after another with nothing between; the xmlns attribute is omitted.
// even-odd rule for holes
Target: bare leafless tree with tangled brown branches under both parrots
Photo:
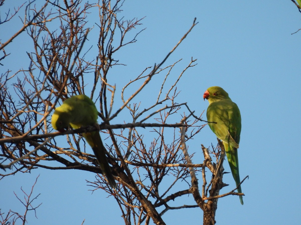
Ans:
<svg viewBox="0 0 301 225"><path fill-rule="evenodd" d="M84 170L95 174L94 180L87 181L92 192L101 190L116 200L125 224L166 224L162 216L170 210L197 207L203 211L204 224L214 224L218 199L242 193L234 189L220 194L227 185L222 182L224 150L220 145L221 149L212 146L211 151L211 147L199 143L202 128L215 122L203 120L203 112L195 113L186 102L178 102L178 84L187 79L185 74L197 65L196 59L191 57L182 66L186 59L179 57L162 67L196 26L196 19L158 65L148 64L142 72L127 74L126 85L119 88L111 68L125 63L117 52L134 44L145 30L137 30L144 17L120 17L122 6L123 0L96 4L46 1L41 8L32 2L27 5L22 29L0 48L3 57L9 57L4 48L18 35L28 35L33 44L22 68L9 68L0 75L0 168L11 168L0 176L39 168L62 173ZM99 16L92 28L87 25L89 13ZM2 21L10 22L10 18L7 15ZM93 34L98 32L96 53L87 39L92 30ZM151 79L161 82L156 80L153 88L147 85ZM153 98L143 101L143 91ZM89 153L81 136L98 128L53 132L52 110L70 96L80 94L88 95L98 108L101 137L117 188L107 184L95 155ZM195 141L199 147L189 148ZM204 158L195 159L200 149ZM30 194L23 193L26 201L21 202L26 213L36 212L39 206L32 206L36 199L32 199L33 189ZM183 202L182 196L190 203ZM10 211L0 215L5 223L20 219L25 223L26 213L21 216Z"/></svg>

